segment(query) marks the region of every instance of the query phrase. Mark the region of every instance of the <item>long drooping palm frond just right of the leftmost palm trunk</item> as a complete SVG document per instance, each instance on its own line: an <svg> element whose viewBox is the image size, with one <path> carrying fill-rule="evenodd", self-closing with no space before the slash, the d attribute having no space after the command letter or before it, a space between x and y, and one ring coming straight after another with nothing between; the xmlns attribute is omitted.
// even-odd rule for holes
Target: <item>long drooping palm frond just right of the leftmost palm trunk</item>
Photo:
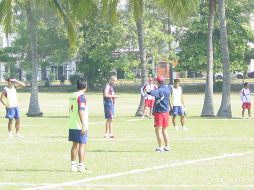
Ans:
<svg viewBox="0 0 254 190"><path fill-rule="evenodd" d="M60 16L63 18L65 27L67 29L70 45L74 46L74 44L76 43L76 32L74 29L74 23L71 22L60 0L54 0L54 5L56 6Z"/></svg>

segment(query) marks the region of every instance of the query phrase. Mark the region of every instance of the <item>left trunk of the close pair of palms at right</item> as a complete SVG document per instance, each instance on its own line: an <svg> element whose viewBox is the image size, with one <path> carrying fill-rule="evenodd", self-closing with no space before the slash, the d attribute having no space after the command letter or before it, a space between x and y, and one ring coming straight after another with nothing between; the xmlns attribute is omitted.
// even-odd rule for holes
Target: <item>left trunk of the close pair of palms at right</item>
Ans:
<svg viewBox="0 0 254 190"><path fill-rule="evenodd" d="M213 25L215 15L215 0L209 0L208 19L208 46L207 46L207 73L205 85L205 100L201 117L214 117L213 109Z"/></svg>

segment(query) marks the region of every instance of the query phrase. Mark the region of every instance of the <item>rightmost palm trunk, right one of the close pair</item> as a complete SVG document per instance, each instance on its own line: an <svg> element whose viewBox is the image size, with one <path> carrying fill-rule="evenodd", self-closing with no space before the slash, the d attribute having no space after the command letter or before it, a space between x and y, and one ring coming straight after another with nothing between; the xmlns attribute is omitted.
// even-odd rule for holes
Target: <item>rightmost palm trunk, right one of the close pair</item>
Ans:
<svg viewBox="0 0 254 190"><path fill-rule="evenodd" d="M219 20L220 20L220 44L223 60L223 85L222 85L222 100L220 109L217 113L218 117L232 117L231 103L230 103L230 61L227 40L227 25L225 17L225 2L218 0Z"/></svg>

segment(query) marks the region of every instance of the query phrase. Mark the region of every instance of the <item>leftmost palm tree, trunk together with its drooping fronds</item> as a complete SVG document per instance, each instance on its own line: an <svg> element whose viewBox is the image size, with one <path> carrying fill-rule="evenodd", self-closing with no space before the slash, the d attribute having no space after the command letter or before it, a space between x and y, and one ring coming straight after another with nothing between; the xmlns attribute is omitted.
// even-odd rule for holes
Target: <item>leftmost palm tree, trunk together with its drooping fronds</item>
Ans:
<svg viewBox="0 0 254 190"><path fill-rule="evenodd" d="M27 0L2 0L0 1L0 24L4 26L5 33L10 33L13 15L15 14L13 8L15 5L19 5L21 11L26 12L27 26L29 31L29 45L30 45L30 59L32 64L32 79L31 79L31 97L29 103L28 116L41 116L39 99L38 99L38 84L37 84L37 40L36 40L36 20L34 18L34 5L35 3L41 3L40 1ZM69 17L63 8L63 5L59 0L48 0L47 3L53 4L56 11L61 15L67 28L69 39L71 44L75 42L75 32Z"/></svg>

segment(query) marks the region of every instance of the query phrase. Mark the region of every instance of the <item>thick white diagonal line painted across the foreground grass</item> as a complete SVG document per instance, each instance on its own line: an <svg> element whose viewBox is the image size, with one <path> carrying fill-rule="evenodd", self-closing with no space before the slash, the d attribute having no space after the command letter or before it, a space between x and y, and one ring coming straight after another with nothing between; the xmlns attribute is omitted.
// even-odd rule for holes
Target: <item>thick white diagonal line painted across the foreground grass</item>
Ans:
<svg viewBox="0 0 254 190"><path fill-rule="evenodd" d="M211 160L219 160L219 159L224 159L224 158L239 157L239 156L244 156L246 154L252 154L252 153L254 153L254 152L248 151L248 152L242 152L242 153L228 153L228 154L223 154L221 156L213 156L213 157L202 158L202 159L197 159L197 160L189 160L189 161L173 163L173 164L169 163L169 164L154 166L154 167L150 167L150 168L136 169L136 170L113 173L113 174L108 174L108 175L100 175L100 176L96 176L96 177L85 178L85 179L78 180L78 181L71 181L71 182L66 182L66 183L59 183L59 184L52 184L52 185L45 185L45 186L39 186L39 187L34 187L34 188L28 188L26 190L60 188L60 187L77 185L77 184L81 184L81 183L87 183L87 182L91 182L91 181L110 179L110 178L130 175L130 174L138 174L138 173L148 172L148 171L152 171L152 170L166 169L166 168L172 168L172 167L177 167L177 166L186 166L186 165L196 164L196 163L200 163L200 162L207 162L207 161L211 161Z"/></svg>

